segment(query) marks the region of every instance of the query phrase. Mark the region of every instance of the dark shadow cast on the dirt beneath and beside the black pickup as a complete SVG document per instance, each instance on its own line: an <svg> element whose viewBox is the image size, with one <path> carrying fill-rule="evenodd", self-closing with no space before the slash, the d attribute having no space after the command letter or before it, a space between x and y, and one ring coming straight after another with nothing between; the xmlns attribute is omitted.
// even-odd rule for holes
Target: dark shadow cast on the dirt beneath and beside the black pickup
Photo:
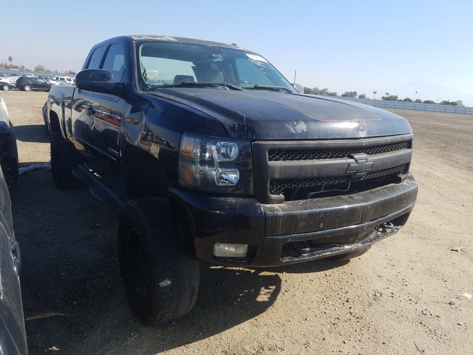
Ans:
<svg viewBox="0 0 473 355"><path fill-rule="evenodd" d="M321 272L346 262L272 268L201 267L194 309L148 328L128 307L116 252L119 210L87 188L61 191L49 171L20 176L12 194L23 258L28 351L34 354L155 354L212 337L274 306L279 274ZM152 350L149 350L152 349Z"/></svg>

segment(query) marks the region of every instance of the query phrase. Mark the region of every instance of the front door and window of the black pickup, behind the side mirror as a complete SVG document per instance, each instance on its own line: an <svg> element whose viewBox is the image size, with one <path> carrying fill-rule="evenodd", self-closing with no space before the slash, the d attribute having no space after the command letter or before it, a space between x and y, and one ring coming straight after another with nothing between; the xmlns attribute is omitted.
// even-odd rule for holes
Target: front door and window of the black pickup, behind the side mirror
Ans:
<svg viewBox="0 0 473 355"><path fill-rule="evenodd" d="M115 82L125 80L123 46L111 44L100 69L112 73ZM92 165L100 171L118 170L120 155L119 132L122 125L125 100L119 96L89 92L85 116L86 149L90 151ZM109 169L104 169L106 166Z"/></svg>

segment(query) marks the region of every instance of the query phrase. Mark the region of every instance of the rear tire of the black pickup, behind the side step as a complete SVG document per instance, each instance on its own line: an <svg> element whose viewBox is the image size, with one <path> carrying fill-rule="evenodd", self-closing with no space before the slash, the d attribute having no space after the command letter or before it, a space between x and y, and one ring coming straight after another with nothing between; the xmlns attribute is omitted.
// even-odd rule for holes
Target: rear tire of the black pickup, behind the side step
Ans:
<svg viewBox="0 0 473 355"><path fill-rule="evenodd" d="M61 132L53 132L51 136L51 172L54 185L61 190L70 188L74 182L72 169L75 159Z"/></svg>

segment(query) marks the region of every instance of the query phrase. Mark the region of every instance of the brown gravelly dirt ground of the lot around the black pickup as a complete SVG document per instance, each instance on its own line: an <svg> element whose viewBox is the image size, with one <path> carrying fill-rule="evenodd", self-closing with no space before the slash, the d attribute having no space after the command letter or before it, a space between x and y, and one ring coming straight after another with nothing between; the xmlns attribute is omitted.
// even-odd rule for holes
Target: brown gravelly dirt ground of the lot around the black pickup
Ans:
<svg viewBox="0 0 473 355"><path fill-rule="evenodd" d="M1 96L20 166L47 162L47 93ZM393 112L416 134L420 185L399 233L350 262L202 266L193 311L158 328L125 299L119 210L87 186L56 189L49 171L20 176L12 205L29 354L472 354L473 298L462 294L473 294L473 116Z"/></svg>

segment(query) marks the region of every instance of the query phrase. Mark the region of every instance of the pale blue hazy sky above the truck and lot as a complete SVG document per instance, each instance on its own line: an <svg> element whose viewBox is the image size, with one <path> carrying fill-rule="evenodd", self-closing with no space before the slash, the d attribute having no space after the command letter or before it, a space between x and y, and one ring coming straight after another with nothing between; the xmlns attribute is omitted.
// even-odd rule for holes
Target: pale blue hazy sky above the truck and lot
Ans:
<svg viewBox="0 0 473 355"><path fill-rule="evenodd" d="M0 9L11 20L2 27L1 62L11 55L13 64L79 70L104 39L175 35L236 43L290 81L297 70L296 82L339 93L420 80L473 94L471 0L16 0ZM15 21L19 14L28 21Z"/></svg>

